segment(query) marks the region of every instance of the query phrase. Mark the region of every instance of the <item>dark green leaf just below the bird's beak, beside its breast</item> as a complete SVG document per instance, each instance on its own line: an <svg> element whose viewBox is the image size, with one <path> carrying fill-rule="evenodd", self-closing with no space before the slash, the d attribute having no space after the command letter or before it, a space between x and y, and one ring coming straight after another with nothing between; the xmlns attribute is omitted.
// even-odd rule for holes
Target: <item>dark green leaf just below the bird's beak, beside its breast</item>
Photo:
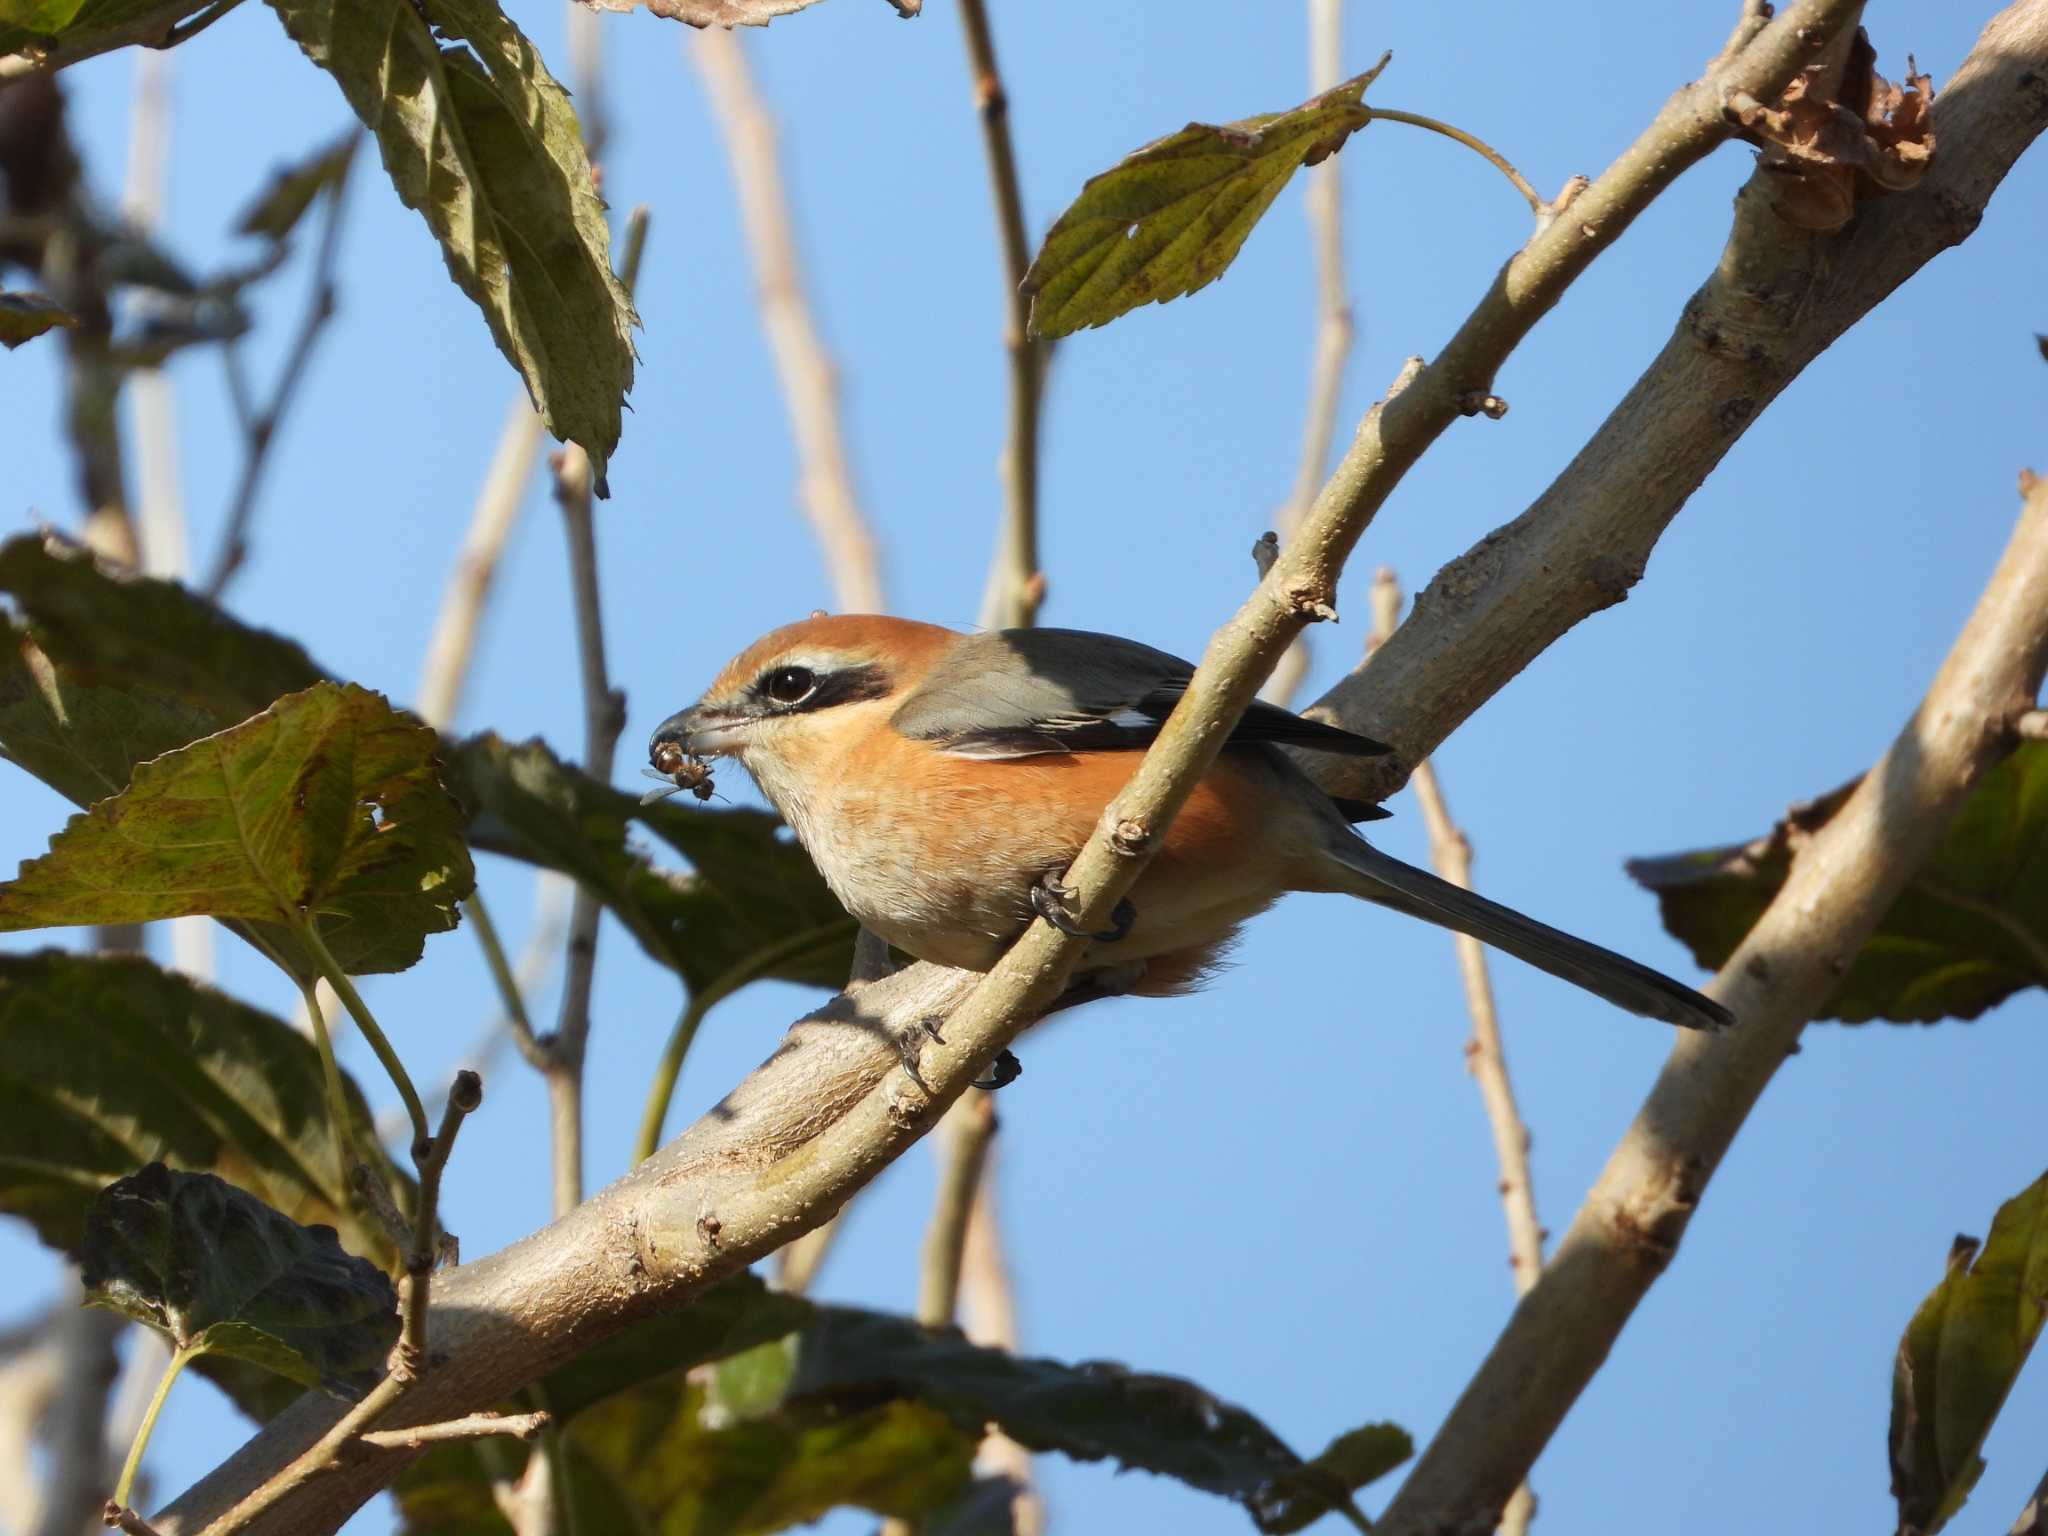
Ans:
<svg viewBox="0 0 2048 1536"><path fill-rule="evenodd" d="M641 805L565 766L541 741L477 735L449 780L477 848L575 877L655 961L715 997L762 977L840 987L854 920L809 856L758 811ZM629 846L639 821L692 864L657 868Z"/></svg>

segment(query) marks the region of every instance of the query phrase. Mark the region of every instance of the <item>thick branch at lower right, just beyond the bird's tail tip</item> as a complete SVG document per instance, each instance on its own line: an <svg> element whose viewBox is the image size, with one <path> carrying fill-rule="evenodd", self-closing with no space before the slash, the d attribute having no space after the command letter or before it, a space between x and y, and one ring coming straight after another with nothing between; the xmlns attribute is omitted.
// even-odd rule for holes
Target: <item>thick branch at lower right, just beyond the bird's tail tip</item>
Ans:
<svg viewBox="0 0 2048 1536"><path fill-rule="evenodd" d="M1423 1452L1380 1532L1481 1536L1636 1303L1677 1251L1706 1182L1815 1010L1942 840L1964 795L2013 748L2011 719L2048 670L2048 481L2036 485L1962 637L1841 811L1798 852L1778 899L1712 993L1741 1020L1679 1038L1649 1100Z"/></svg>

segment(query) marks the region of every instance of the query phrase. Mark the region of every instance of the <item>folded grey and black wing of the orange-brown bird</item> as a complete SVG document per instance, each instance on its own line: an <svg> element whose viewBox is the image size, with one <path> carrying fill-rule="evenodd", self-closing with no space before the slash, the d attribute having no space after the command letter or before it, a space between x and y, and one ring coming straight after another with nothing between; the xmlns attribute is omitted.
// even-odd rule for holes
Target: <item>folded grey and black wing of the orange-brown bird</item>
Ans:
<svg viewBox="0 0 2048 1536"><path fill-rule="evenodd" d="M1194 668L1151 645L1081 629L969 635L891 723L963 758L1139 752L1159 735ZM1253 702L1233 743L1284 741L1376 756L1378 741Z"/></svg>

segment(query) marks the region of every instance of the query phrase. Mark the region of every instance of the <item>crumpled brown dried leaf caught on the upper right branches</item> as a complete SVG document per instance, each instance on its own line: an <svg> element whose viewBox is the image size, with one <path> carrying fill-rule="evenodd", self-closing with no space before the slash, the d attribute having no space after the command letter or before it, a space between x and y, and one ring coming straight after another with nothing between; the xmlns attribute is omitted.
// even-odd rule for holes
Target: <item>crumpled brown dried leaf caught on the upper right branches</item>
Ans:
<svg viewBox="0 0 2048 1536"><path fill-rule="evenodd" d="M1862 29L1849 47L1841 86L1821 92L1825 63L1794 76L1776 106L1733 104L1739 137L1763 150L1759 168L1774 176L1772 207L1798 227L1827 233L1855 213L1855 203L1905 193L1933 158L1933 80L1907 55L1905 84L1876 72L1876 49Z"/></svg>

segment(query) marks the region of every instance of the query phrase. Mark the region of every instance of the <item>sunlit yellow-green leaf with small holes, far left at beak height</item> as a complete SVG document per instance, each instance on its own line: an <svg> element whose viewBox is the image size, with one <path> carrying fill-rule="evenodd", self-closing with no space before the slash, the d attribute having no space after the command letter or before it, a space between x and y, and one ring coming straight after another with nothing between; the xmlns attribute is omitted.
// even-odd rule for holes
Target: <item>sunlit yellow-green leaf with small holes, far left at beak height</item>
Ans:
<svg viewBox="0 0 2048 1536"><path fill-rule="evenodd" d="M287 694L74 815L0 885L0 932L240 918L293 958L309 918L342 969L403 971L475 887L436 745L354 684Z"/></svg>

